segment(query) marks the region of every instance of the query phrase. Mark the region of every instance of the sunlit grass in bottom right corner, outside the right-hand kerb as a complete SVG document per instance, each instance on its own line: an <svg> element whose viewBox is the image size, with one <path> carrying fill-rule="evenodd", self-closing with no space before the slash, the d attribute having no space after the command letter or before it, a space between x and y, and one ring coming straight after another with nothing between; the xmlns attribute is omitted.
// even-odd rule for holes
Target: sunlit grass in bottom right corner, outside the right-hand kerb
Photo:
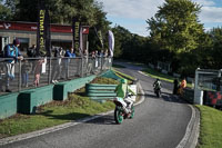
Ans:
<svg viewBox="0 0 222 148"><path fill-rule="evenodd" d="M201 111L199 148L222 148L222 111L196 106Z"/></svg>

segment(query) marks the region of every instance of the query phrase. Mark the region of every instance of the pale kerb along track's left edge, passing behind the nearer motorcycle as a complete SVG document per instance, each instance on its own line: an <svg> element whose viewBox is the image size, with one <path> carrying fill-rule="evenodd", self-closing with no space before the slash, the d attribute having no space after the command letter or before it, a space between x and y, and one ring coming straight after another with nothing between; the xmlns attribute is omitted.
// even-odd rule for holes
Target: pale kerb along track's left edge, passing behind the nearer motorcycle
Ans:
<svg viewBox="0 0 222 148"><path fill-rule="evenodd" d="M144 91L142 90L140 82L138 82L138 87L141 90L142 96L141 96L141 99L137 103L134 103L134 106L138 106L138 105L140 105L144 101ZM114 110L111 110L111 111L102 112L102 114L99 114L99 115L95 115L95 116L92 116L92 117L85 117L83 119L73 120L73 121L70 121L70 122L67 122L67 124L63 124L63 125L46 128L46 129L42 129L42 130L37 130L37 131L29 132L29 134L22 134L22 135L18 135L18 136L3 138L3 139L0 139L0 146L12 144L12 142L16 142L16 141L30 139L30 138L38 137L38 136L46 135L46 134L50 134L50 132L54 132L54 131L58 131L58 130L61 130L61 129L65 129L65 128L73 127L73 126L77 126L77 125L82 124L82 122L87 122L87 121L100 118L102 116L107 116L109 114L113 114L113 112L114 112Z"/></svg>

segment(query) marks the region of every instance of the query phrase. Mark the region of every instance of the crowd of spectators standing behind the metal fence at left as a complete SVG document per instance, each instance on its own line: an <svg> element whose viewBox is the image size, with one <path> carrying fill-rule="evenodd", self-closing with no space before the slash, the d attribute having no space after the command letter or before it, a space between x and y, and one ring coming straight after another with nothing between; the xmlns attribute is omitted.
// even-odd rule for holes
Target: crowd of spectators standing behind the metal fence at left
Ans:
<svg viewBox="0 0 222 148"><path fill-rule="evenodd" d="M0 91L11 92L10 82L14 79L14 66L18 61L21 60L21 87L34 86L39 87L40 77L42 73L42 65L49 63L47 61L46 56L40 52L37 55L37 46L32 45L29 49L27 49L27 53L24 57L21 55L19 50L19 40L14 39L13 43L6 46L4 57L10 58L3 62L0 62ZM81 52L75 52L73 48L64 50L61 47L52 47L52 57L51 57L51 77L50 82L57 83L59 80L68 79L69 75L69 65L77 57L82 57L82 60L79 60L78 63L78 72L82 69L82 66L87 72L95 72L97 68L102 63L99 58L109 57L108 50L92 50L89 52L87 49ZM74 62L78 62L75 60ZM80 65L82 62L82 66ZM105 62L105 61L104 61ZM30 82L30 75L33 75L33 81ZM80 73L79 73L80 76ZM30 83L29 83L30 82ZM3 89L6 87L6 89Z"/></svg>

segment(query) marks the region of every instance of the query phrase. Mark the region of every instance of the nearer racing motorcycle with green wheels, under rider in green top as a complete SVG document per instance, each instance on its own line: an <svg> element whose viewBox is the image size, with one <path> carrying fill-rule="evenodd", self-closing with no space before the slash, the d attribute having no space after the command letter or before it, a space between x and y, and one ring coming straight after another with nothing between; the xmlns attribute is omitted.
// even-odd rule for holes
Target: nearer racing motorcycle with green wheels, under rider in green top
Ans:
<svg viewBox="0 0 222 148"><path fill-rule="evenodd" d="M134 116L134 106L135 96L129 93L127 98L115 97L113 102L115 103L114 109L114 120L117 124L121 124L123 119L132 119ZM130 106L131 105L131 106Z"/></svg>

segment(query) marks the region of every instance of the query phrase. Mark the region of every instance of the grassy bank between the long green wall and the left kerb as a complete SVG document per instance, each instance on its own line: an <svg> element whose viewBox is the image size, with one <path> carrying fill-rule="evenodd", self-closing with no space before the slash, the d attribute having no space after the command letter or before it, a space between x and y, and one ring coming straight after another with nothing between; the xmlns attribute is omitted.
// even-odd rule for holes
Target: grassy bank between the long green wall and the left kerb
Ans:
<svg viewBox="0 0 222 148"><path fill-rule="evenodd" d="M98 78L100 83L117 83L108 78ZM97 80L94 80L97 82ZM16 115L0 121L0 138L26 134L47 127L61 125L71 120L93 116L114 109L112 101L95 102L84 96L84 88L69 95L65 101L52 101L38 107L36 115Z"/></svg>

